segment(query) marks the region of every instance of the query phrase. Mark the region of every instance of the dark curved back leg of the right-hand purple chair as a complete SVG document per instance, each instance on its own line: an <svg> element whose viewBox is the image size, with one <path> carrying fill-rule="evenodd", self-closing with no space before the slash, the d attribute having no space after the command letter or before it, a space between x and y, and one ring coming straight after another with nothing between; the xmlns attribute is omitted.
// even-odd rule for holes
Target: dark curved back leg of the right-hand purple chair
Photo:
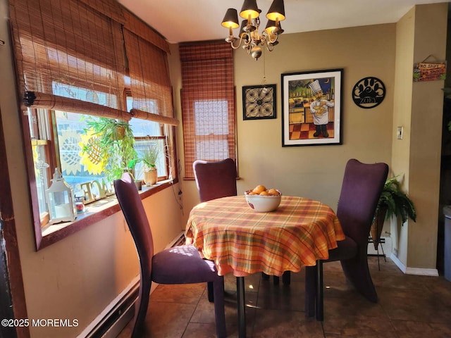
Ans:
<svg viewBox="0 0 451 338"><path fill-rule="evenodd" d="M366 299L377 303L378 294L369 273L366 252L356 258L341 261L341 266L347 280L349 280L360 294Z"/></svg>

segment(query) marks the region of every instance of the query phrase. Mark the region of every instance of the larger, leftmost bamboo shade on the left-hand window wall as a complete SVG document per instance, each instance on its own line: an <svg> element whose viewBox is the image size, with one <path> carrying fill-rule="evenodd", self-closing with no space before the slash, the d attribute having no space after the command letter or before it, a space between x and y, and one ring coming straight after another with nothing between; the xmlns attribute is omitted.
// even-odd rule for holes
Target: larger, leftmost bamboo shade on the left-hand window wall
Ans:
<svg viewBox="0 0 451 338"><path fill-rule="evenodd" d="M125 118L121 23L87 3L10 0L19 89L32 92L24 102L28 106L34 104L30 96L35 95L41 98L40 106L49 102L47 108L70 106L78 112L78 105L86 111L85 103L90 103L111 108L108 117ZM110 15L121 20L116 1L93 4L108 7ZM92 113L97 115L95 109Z"/></svg>

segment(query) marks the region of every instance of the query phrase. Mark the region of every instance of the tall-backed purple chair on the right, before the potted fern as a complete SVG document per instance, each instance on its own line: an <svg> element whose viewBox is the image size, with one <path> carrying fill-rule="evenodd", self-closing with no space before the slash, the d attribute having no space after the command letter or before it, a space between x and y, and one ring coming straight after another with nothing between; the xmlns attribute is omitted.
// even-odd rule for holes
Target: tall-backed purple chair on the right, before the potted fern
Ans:
<svg viewBox="0 0 451 338"><path fill-rule="evenodd" d="M345 232L345 240L329 251L327 260L306 267L305 311L323 320L323 263L341 261L343 272L357 291L376 303L378 295L369 273L366 249L374 212L388 175L385 163L366 164L351 159L343 177L337 216Z"/></svg>

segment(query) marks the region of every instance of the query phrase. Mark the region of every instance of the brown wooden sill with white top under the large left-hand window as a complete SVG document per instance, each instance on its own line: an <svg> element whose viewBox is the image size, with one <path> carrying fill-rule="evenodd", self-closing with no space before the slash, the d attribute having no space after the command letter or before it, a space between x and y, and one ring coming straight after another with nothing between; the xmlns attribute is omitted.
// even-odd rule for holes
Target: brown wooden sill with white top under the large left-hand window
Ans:
<svg viewBox="0 0 451 338"><path fill-rule="evenodd" d="M140 191L140 197L141 199L145 199L167 187L171 187L171 185L176 182L178 182L177 179L164 180L152 185L152 187L143 186L142 191ZM63 222L42 227L41 236L39 236L39 234L36 236L36 249L43 249L70 236L70 234L74 234L75 232L85 229L85 227L88 227L89 225L97 223L100 220L121 211L116 195L88 204L85 208L86 211L84 213L78 213L77 218L73 222Z"/></svg>

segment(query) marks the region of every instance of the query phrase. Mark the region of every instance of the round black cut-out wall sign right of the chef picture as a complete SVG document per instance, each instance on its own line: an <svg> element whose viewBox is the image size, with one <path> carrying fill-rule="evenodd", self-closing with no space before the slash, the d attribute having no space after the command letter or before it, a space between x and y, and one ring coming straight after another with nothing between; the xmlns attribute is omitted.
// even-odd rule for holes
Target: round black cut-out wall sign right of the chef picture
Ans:
<svg viewBox="0 0 451 338"><path fill-rule="evenodd" d="M352 100L360 108L374 108L385 99L385 84L377 77L364 77L352 89Z"/></svg>

